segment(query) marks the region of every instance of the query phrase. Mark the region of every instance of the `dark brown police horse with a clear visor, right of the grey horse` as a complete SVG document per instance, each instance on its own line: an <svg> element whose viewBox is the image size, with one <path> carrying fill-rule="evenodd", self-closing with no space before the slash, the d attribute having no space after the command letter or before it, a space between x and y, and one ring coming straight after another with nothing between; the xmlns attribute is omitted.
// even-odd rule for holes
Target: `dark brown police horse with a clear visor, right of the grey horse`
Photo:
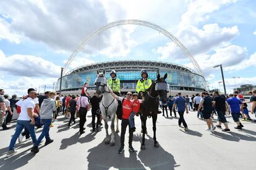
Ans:
<svg viewBox="0 0 256 170"><path fill-rule="evenodd" d="M159 144L156 140L156 119L158 114L158 97L163 102L167 101L167 94L169 92L169 84L166 83L167 73L163 78L160 78L158 74L157 79L152 82L151 86L148 88L148 92L144 94L144 101L142 107L140 107L140 119L142 121L142 145L140 149L145 150L145 133L147 132L147 118L152 117L153 121L153 132L154 132L154 147L158 148Z"/></svg>

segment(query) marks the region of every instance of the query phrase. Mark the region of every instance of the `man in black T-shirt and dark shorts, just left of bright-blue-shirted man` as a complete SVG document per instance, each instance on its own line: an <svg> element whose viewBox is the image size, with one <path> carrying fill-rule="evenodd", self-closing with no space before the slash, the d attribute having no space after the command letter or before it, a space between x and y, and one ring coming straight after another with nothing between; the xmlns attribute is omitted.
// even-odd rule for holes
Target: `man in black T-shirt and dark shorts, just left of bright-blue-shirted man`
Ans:
<svg viewBox="0 0 256 170"><path fill-rule="evenodd" d="M226 114L226 108L228 107L228 103L226 102L226 99L219 95L218 91L214 92L214 98L213 98L213 107L215 107L215 110L218 114L218 125L216 127L221 128L221 123L224 124L225 129L223 129L223 132L229 132L230 129L228 128L228 122L225 118Z"/></svg>

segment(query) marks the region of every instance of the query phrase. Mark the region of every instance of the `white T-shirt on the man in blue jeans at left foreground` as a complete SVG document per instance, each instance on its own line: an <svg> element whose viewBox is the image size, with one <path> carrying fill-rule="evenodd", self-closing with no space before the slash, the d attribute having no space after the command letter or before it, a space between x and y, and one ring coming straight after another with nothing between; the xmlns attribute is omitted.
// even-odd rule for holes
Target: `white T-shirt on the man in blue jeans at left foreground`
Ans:
<svg viewBox="0 0 256 170"><path fill-rule="evenodd" d="M32 98L28 97L27 99L21 101L21 102L17 102L17 105L20 106L20 116L18 118L18 120L26 120L29 121L30 117L28 116L28 111L27 108L32 108L34 110L35 108L35 102Z"/></svg>

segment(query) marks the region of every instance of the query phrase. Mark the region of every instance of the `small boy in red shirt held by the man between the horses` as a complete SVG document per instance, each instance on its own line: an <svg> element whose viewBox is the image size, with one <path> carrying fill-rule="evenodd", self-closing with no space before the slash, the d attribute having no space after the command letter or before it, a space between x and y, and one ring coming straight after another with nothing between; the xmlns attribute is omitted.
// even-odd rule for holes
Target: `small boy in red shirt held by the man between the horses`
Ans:
<svg viewBox="0 0 256 170"><path fill-rule="evenodd" d="M130 113L130 116L129 116L129 125L130 125L130 129L132 130L132 132L135 132L136 127L134 126L134 116L137 113L139 113L140 103L142 103L143 101L141 99L138 99L137 93L132 94L132 98L134 100L132 100L132 113ZM143 97L142 97L142 99L143 99Z"/></svg>

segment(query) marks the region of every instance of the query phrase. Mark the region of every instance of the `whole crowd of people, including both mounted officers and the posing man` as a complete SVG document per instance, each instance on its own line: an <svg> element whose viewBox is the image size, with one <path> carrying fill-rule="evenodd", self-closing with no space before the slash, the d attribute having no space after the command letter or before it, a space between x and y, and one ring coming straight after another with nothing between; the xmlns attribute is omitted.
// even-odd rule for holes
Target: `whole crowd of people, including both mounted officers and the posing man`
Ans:
<svg viewBox="0 0 256 170"><path fill-rule="evenodd" d="M127 92L126 96L121 96L120 93L120 80L117 78L116 71L111 71L111 78L108 79L109 92L113 97L119 100L117 110L122 111L122 123L121 123L121 147L118 153L124 152L124 135L126 128L129 126L129 151L134 152L132 147L132 136L135 131L134 116L139 115L140 104L143 103L143 95L147 92L148 87L151 86L151 80L148 79L146 70L141 71L142 78L139 79L136 87L136 92ZM93 94L90 97L88 92L88 83L85 83L82 87L80 95L60 95L59 93L46 91L44 95L38 95L35 89L30 88L27 91L27 95L18 100L17 95L12 95L9 99L9 95L4 94L4 89L0 89L0 106L1 117L0 124L3 130L9 129L8 124L11 123L14 110L19 113L17 119L17 125L15 133L12 136L9 151L7 157L16 153L15 143L19 140L19 143L23 142L23 138L26 140L32 138L33 147L31 152L38 153L38 145L45 138L45 145L51 144L54 140L49 136L50 127L54 126L54 121L58 119L59 115L64 115L64 118L69 119L67 126L75 124L75 119L79 118L79 134L85 133L84 124L87 121L87 112L92 110L92 131L100 131L101 124L101 111L100 101L101 96ZM244 97L238 92L224 96L215 91L213 94L208 92L202 92L201 94L182 96L181 92L178 92L176 96L169 96L166 102L160 100L160 108L163 111L163 116L179 115L178 125L188 131L186 120L184 119L184 113L189 113L189 110L197 112L197 118L203 119L207 123L207 131L215 131L216 127L222 128L221 124L224 124L222 131L231 131L226 120L226 115L232 116L234 122L237 124L235 129L242 129L244 125L241 121L252 121L247 108L247 103L252 103L250 108L251 113L256 115L256 91L250 92L251 97L249 102L245 102ZM169 108L169 109L168 109ZM169 111L168 111L169 110ZM169 113L168 113L169 112ZM161 113L161 111L158 111ZM218 116L218 124L214 124L213 116ZM95 119L97 118L96 124ZM256 122L256 120L254 120ZM40 136L37 138L35 134L35 127L43 128ZM24 130L23 130L24 129Z"/></svg>

